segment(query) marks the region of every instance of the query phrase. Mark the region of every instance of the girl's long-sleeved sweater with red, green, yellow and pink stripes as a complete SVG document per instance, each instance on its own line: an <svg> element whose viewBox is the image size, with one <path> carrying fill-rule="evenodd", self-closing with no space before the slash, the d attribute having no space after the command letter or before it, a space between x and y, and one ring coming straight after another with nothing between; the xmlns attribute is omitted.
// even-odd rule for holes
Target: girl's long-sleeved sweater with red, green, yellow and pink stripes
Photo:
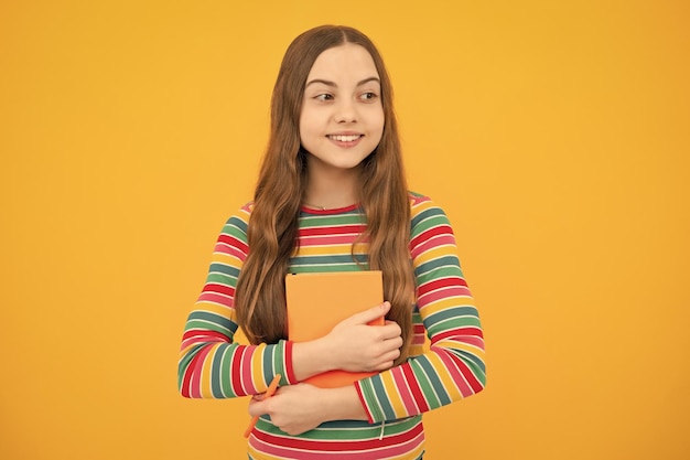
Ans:
<svg viewBox="0 0 690 460"><path fill-rule="evenodd" d="M421 414L471 396L485 385L484 340L477 310L463 278L455 238L444 212L410 194L410 255L417 282L414 338L407 363L355 383L369 421L324 422L289 436L261 417L249 437L250 459L421 459ZM242 345L233 308L237 277L249 250L251 205L230 217L218 237L208 277L182 340L179 387L185 397L228 398L298 383L292 343ZM352 245L366 228L357 206L303 207L291 272L359 270ZM366 260L366 245L355 257ZM429 339L428 346L424 346Z"/></svg>

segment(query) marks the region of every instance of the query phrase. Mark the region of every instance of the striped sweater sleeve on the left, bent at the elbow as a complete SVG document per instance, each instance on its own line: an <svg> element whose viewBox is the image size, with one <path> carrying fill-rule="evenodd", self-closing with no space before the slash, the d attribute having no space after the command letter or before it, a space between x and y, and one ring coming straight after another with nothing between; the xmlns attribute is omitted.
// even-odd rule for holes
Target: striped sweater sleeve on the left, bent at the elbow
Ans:
<svg viewBox="0 0 690 460"><path fill-rule="evenodd" d="M230 217L213 253L204 288L184 328L177 387L190 398L230 398L266 392L274 375L281 385L295 383L292 343L240 345L234 299L237 277L247 258L250 205Z"/></svg>

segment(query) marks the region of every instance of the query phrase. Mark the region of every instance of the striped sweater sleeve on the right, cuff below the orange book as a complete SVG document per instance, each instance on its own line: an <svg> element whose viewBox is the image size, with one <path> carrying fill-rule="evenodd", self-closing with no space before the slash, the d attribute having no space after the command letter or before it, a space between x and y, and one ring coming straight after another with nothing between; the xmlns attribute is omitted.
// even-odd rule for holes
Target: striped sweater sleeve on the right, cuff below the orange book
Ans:
<svg viewBox="0 0 690 460"><path fill-rule="evenodd" d="M431 343L407 363L355 383L370 422L414 416L486 384L484 334L449 220L431 200L414 196L411 228L417 307Z"/></svg>

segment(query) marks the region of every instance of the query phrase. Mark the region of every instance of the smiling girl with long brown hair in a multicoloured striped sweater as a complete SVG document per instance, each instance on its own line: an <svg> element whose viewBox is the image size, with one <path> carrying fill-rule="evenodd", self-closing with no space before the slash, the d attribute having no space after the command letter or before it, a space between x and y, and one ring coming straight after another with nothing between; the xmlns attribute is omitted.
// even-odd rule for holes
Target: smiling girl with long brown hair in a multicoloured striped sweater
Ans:
<svg viewBox="0 0 690 460"><path fill-rule="evenodd" d="M319 340L287 340L285 274L363 269L384 272L386 302ZM251 345L234 343L238 327ZM223 228L188 317L180 392L252 395L249 459L421 459L421 414L482 391L483 356L449 221L407 190L378 51L351 28L304 32L276 82L255 199ZM342 388L300 383L335 368L379 373Z"/></svg>

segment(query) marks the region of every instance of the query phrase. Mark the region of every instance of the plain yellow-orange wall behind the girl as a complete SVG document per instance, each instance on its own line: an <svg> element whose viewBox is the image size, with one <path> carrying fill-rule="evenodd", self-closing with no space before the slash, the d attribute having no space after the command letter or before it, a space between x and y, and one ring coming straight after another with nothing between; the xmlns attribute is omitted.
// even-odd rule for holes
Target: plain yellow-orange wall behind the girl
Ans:
<svg viewBox="0 0 690 460"><path fill-rule="evenodd" d="M0 3L0 458L245 458L179 342L322 23L380 46L483 315L488 387L428 457L690 458L688 3Z"/></svg>

